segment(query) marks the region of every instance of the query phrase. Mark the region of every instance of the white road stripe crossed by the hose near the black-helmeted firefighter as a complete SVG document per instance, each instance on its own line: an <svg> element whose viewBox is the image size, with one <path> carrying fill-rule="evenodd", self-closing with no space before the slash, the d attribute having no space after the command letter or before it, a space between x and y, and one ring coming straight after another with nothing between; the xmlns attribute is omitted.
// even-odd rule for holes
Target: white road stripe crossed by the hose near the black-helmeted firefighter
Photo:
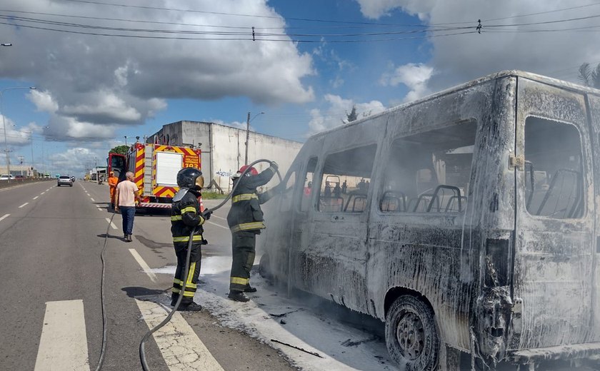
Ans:
<svg viewBox="0 0 600 371"><path fill-rule="evenodd" d="M166 310L156 303L137 299L136 303L149 328L158 325L166 317ZM169 370L223 371L223 367L216 362L181 313L176 312L171 322L152 335Z"/></svg>

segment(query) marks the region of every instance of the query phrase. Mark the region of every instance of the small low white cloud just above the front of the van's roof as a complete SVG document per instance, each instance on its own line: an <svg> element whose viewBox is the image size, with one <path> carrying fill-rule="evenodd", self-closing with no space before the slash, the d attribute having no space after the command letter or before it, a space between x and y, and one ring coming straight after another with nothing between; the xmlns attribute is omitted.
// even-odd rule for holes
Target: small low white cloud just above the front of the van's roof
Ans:
<svg viewBox="0 0 600 371"><path fill-rule="evenodd" d="M334 94L326 94L324 99L327 103L326 108L313 108L309 112L311 117L309 121L309 135L343 125L347 122L347 115L352 111L352 107L356 107L356 114L359 118L370 116L386 109L380 101L356 103L352 99L344 99Z"/></svg>

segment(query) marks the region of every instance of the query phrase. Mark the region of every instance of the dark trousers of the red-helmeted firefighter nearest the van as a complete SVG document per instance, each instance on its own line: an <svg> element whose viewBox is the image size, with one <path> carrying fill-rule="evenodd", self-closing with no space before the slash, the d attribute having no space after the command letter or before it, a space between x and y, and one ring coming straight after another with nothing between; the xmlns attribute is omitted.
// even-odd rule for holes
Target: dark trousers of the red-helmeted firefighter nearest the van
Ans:
<svg viewBox="0 0 600 371"><path fill-rule="evenodd" d="M231 277L229 291L244 291L250 285L250 270L256 256L256 235L254 233L232 233Z"/></svg>

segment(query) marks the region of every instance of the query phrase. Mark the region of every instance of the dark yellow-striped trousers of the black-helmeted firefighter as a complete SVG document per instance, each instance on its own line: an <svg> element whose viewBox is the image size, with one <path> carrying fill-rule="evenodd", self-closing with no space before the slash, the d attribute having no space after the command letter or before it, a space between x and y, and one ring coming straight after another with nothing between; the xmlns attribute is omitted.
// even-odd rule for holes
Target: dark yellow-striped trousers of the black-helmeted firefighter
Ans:
<svg viewBox="0 0 600 371"><path fill-rule="evenodd" d="M194 294L198 286L198 276L200 275L200 263L202 259L201 244L191 245L191 253L189 255L189 272L184 272L186 268L187 243L178 243L175 245L175 255L177 255L177 268L175 270L175 278L173 279L173 288L171 289L171 300L177 300L181 289L184 288L184 298L181 299L181 304L189 304L194 301ZM184 272L184 277L181 273Z"/></svg>

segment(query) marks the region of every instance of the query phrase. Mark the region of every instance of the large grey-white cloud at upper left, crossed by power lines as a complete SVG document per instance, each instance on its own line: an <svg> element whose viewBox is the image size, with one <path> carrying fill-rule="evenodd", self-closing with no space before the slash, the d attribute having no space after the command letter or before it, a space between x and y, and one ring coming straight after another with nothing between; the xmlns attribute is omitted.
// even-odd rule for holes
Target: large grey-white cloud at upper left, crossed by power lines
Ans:
<svg viewBox="0 0 600 371"><path fill-rule="evenodd" d="M144 5L182 7L181 1L174 0L151 0ZM189 7L194 8L191 3ZM248 40L252 26L256 29L285 26L285 20L266 4L266 0L211 3L211 11L256 15L252 18L103 4L73 6L56 0L11 4L14 16L24 15L19 11L69 16L93 14L99 19L29 16L90 26L170 32L101 31L107 34L194 39L103 37L41 31L26 27L39 24L16 19L11 20L13 26L1 26L3 38L15 45L18 41L19 46L3 55L0 78L34 81L40 91L31 93L30 99L39 111L51 115L51 131L56 135L91 137L101 133L105 138L119 126L144 123L166 108L169 98L211 100L247 96L255 103L266 104L306 103L314 99L313 88L302 82L304 77L315 73L311 54L301 53L291 42ZM224 26L237 26L240 29L236 31L248 34L236 37L214 34L231 31ZM66 26L48 27L89 31ZM206 31L212 34L201 34ZM222 40L224 38L232 40Z"/></svg>

